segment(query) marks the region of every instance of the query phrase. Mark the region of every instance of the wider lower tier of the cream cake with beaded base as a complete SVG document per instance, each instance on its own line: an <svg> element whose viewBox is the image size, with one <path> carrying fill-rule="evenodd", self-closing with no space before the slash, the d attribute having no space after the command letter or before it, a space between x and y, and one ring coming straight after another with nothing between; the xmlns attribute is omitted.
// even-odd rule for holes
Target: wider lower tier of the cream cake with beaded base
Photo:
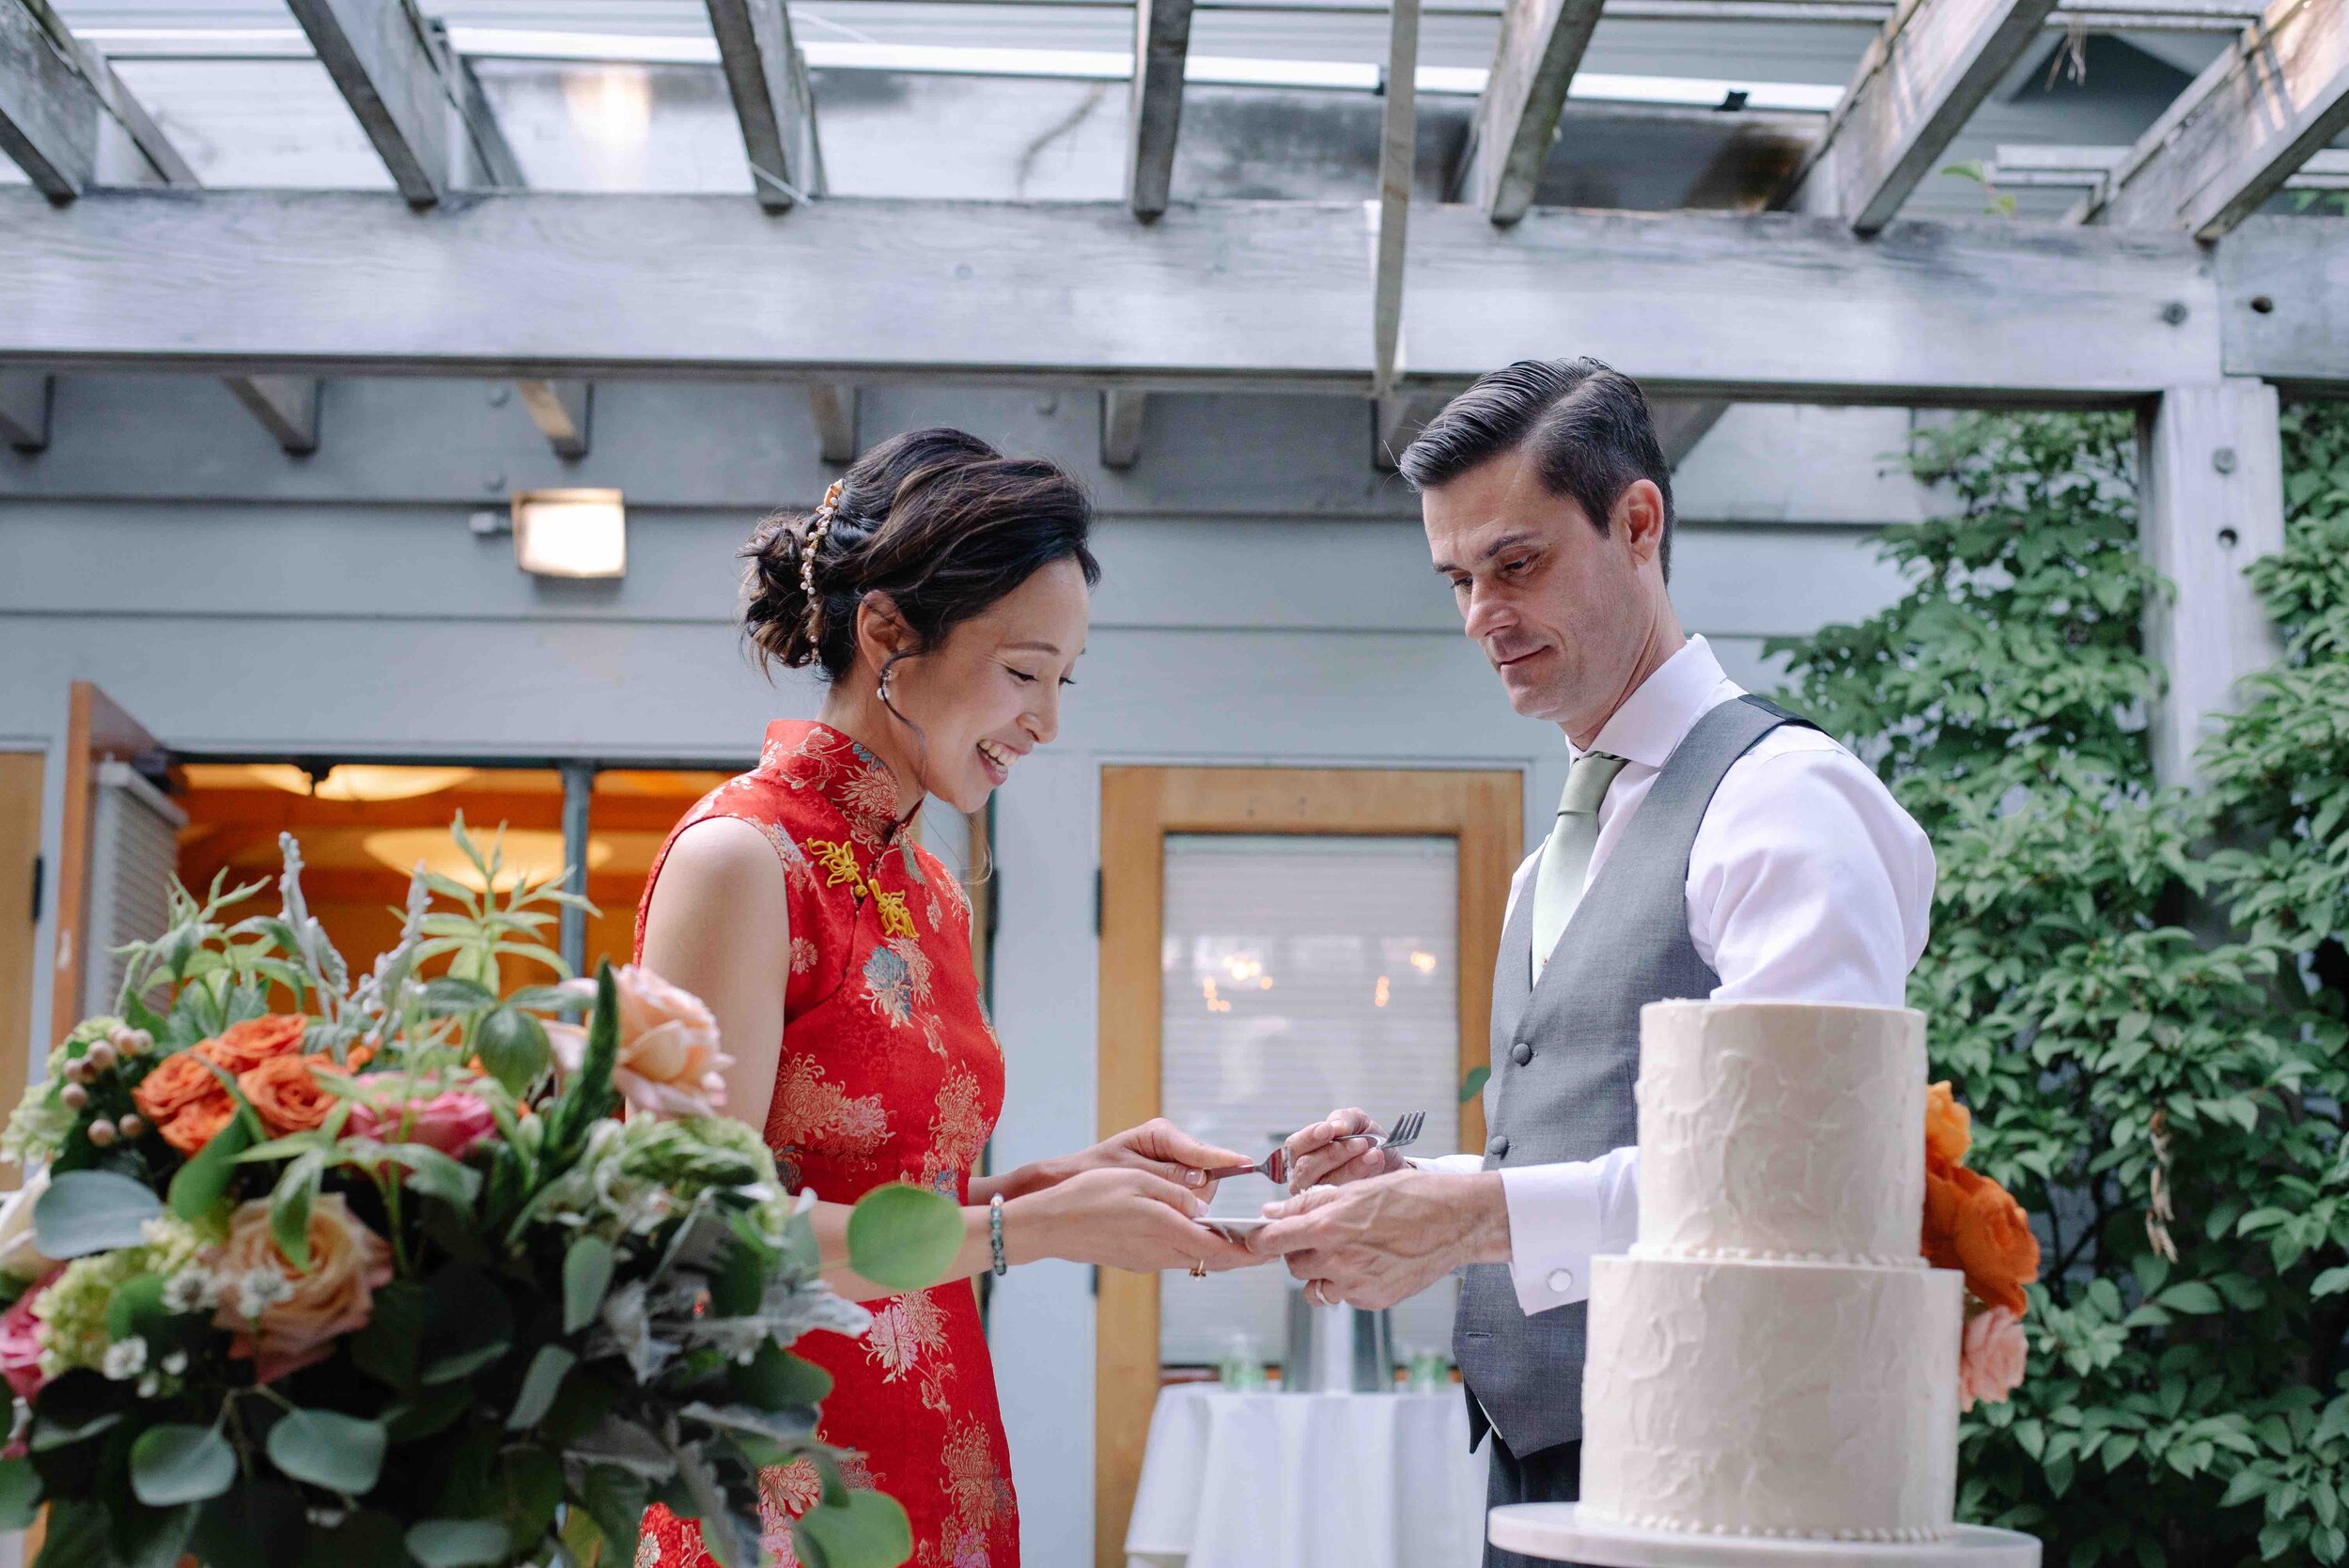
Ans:
<svg viewBox="0 0 2349 1568"><path fill-rule="evenodd" d="M1649 1530L1943 1540L1964 1279L1595 1258L1583 1512Z"/></svg>

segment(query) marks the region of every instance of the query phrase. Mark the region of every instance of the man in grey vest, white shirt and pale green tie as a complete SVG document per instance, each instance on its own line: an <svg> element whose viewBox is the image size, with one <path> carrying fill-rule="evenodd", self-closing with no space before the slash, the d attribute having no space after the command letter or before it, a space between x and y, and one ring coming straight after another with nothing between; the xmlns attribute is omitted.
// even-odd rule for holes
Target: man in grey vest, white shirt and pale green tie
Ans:
<svg viewBox="0 0 2349 1568"><path fill-rule="evenodd" d="M1365 1153L1337 1138L1369 1117L1332 1113L1290 1138L1299 1197L1252 1246L1311 1300L1365 1307L1466 1270L1452 1347L1492 1502L1571 1500L1590 1258L1637 1237L1640 1007L1900 1005L1933 850L1875 772L1680 629L1672 477L1628 376L1494 371L1400 467L1510 707L1564 732L1567 789L1510 885L1482 1157Z"/></svg>

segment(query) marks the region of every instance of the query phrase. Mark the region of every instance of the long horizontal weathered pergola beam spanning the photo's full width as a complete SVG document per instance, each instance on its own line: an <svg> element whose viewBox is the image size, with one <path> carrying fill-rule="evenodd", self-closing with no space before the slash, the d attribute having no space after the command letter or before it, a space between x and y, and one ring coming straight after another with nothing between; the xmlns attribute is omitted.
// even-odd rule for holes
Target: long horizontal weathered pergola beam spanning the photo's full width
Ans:
<svg viewBox="0 0 2349 1568"><path fill-rule="evenodd" d="M369 192L0 190L0 366L1369 397L1362 228L1360 202L1142 225L1123 202L832 200L778 228L726 195L413 214ZM2182 232L1898 221L1860 239L1797 214L1574 209L1496 230L1428 204L1395 390L1574 352L1654 397L1731 401L2123 406L2215 380L2222 354L2349 387L2344 268L2337 218L2255 221L2213 268ZM2222 310L2220 277L2267 279L2267 315L2234 282Z"/></svg>

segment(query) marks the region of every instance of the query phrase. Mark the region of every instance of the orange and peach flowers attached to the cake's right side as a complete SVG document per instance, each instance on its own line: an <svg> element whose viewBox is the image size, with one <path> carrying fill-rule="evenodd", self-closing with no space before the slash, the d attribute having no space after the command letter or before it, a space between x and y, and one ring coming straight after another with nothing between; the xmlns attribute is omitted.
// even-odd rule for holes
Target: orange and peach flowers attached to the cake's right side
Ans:
<svg viewBox="0 0 2349 1568"><path fill-rule="evenodd" d="M2022 1385L2027 1345L2022 1286L2039 1277L2039 1237L2006 1188L1966 1169L1973 1113L1947 1082L1931 1084L1924 1103L1924 1256L1933 1268L1966 1275L1966 1336L1957 1361L1964 1408L2006 1404Z"/></svg>

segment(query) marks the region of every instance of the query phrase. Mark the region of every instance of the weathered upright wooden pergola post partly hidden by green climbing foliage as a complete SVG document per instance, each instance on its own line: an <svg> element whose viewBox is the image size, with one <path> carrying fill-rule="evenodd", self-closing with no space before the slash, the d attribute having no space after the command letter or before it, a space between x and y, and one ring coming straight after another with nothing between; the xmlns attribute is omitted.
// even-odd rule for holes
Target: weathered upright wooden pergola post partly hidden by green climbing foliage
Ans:
<svg viewBox="0 0 2349 1568"><path fill-rule="evenodd" d="M2248 376L2170 387L2140 427L2145 556L2175 599L2145 606L2145 648L2168 671L2154 704L2154 777L2194 784L2194 749L2234 688L2274 664L2276 629L2243 568L2283 549L2276 390Z"/></svg>

